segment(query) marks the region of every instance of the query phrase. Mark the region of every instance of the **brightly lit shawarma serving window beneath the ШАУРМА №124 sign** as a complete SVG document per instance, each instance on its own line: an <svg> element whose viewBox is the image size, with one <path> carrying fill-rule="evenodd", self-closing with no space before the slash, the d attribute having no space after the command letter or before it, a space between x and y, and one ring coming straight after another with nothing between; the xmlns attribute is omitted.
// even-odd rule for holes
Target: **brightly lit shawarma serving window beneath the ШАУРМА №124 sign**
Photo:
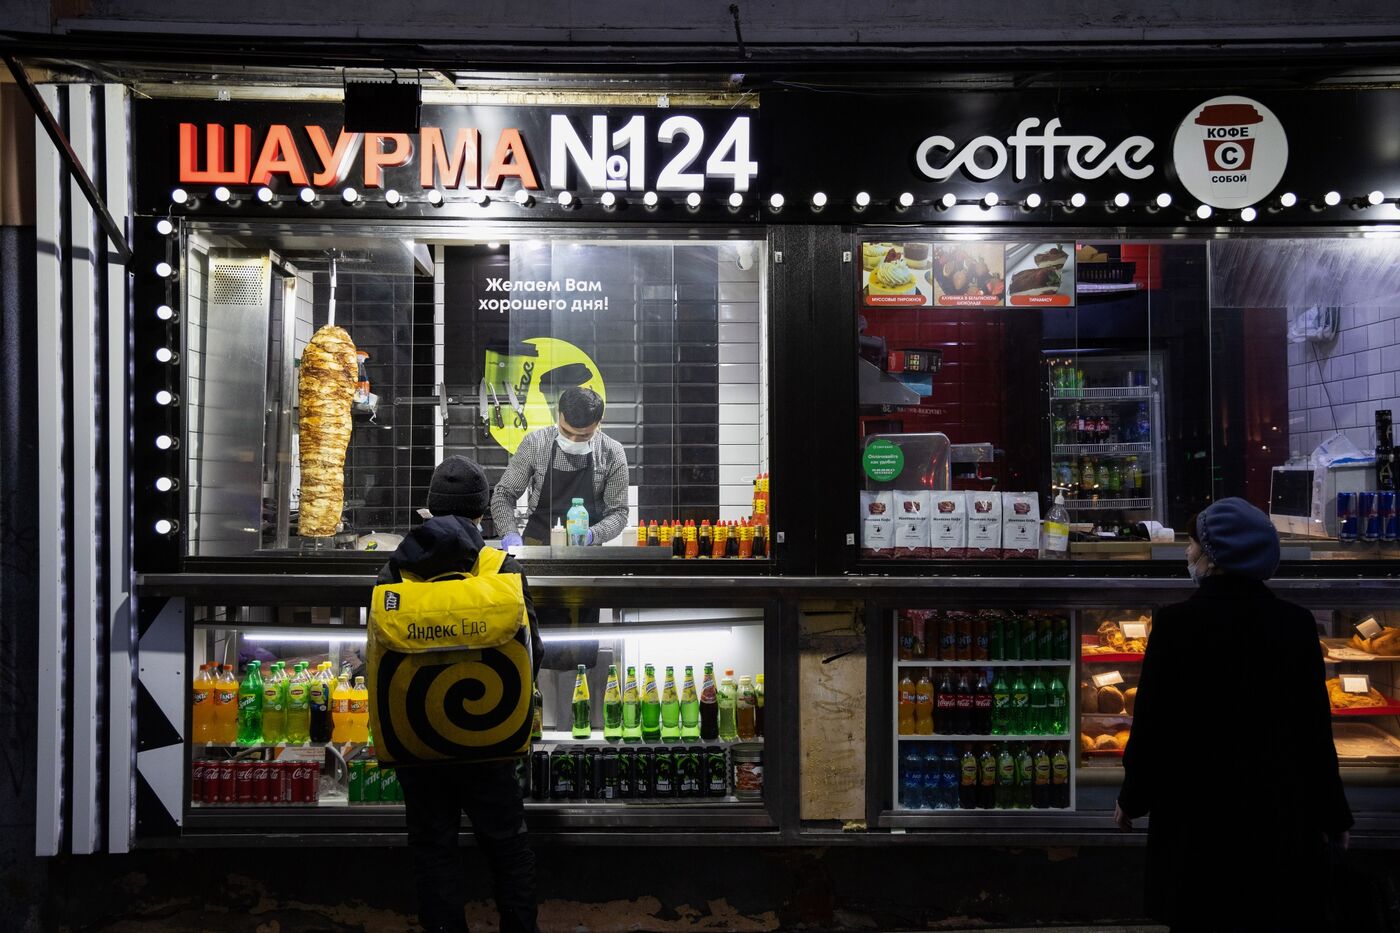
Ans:
<svg viewBox="0 0 1400 933"><path fill-rule="evenodd" d="M496 486L531 434L554 452L570 389L609 438L594 544L629 548L570 555L683 559L687 527L693 559L769 553L763 242L451 233L186 228L186 553L389 551L445 457ZM487 509L487 539L549 499Z"/></svg>

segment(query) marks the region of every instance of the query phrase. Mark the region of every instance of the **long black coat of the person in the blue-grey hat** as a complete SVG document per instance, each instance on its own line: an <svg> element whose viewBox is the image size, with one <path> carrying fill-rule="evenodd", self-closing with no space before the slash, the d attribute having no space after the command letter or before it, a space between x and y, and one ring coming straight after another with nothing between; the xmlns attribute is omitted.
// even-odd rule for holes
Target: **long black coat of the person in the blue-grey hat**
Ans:
<svg viewBox="0 0 1400 933"><path fill-rule="evenodd" d="M1324 929L1326 836L1352 820L1312 614L1228 574L1159 611L1119 804L1151 814L1152 916L1183 929Z"/></svg>

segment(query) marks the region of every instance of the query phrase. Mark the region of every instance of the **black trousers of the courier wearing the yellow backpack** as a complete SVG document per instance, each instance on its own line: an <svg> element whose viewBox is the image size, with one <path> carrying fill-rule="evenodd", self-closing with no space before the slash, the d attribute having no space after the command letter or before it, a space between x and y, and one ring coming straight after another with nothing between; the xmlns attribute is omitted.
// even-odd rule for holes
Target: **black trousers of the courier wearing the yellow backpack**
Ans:
<svg viewBox="0 0 1400 933"><path fill-rule="evenodd" d="M399 769L419 920L428 933L466 933L466 878L456 836L462 814L491 869L501 933L538 933L535 853L514 762Z"/></svg>

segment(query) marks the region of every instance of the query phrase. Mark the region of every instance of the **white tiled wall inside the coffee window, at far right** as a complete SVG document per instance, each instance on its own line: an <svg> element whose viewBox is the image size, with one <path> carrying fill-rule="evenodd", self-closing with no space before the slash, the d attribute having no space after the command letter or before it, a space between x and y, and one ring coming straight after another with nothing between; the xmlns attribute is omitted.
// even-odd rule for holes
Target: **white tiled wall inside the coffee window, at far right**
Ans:
<svg viewBox="0 0 1400 933"><path fill-rule="evenodd" d="M1288 345L1289 451L1308 455L1333 431L1375 447L1375 412L1400 415L1400 307L1347 307L1331 343Z"/></svg>

